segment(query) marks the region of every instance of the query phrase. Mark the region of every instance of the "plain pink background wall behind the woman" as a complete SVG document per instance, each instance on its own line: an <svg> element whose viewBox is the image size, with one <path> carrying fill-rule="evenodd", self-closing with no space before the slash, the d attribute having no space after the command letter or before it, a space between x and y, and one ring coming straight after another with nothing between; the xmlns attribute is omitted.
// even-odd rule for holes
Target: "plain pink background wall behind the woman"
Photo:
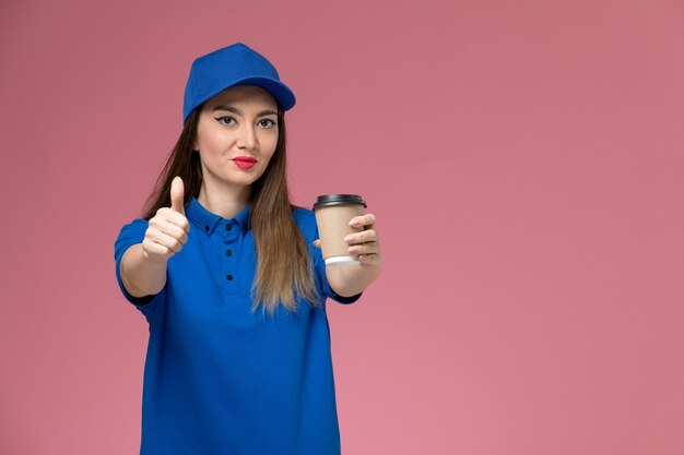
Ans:
<svg viewBox="0 0 684 455"><path fill-rule="evenodd" d="M3 2L0 453L134 454L114 241L234 41L297 96L294 202L362 194L345 455L684 453L680 1Z"/></svg>

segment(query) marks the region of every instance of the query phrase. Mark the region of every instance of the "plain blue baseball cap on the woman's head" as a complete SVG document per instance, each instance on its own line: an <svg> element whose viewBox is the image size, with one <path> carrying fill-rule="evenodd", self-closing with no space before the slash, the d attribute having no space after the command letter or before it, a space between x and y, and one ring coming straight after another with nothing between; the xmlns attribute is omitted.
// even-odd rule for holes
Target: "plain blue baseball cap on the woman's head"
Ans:
<svg viewBox="0 0 684 455"><path fill-rule="evenodd" d="M198 57L190 68L182 103L182 123L192 110L234 85L258 85L278 100L281 109L295 105L295 94L280 81L275 67L243 43Z"/></svg>

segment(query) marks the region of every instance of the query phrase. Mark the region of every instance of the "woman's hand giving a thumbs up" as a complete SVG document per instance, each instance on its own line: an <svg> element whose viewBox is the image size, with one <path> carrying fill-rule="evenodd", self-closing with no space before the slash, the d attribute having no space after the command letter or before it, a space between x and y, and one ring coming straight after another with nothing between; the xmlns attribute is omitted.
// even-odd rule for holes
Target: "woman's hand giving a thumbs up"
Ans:
<svg viewBox="0 0 684 455"><path fill-rule="evenodd" d="M180 177L175 177L170 189L170 207L161 207L156 215L150 218L142 241L143 256L156 262L168 261L174 254L182 250L188 241L190 223L186 218L182 203L184 185Z"/></svg>

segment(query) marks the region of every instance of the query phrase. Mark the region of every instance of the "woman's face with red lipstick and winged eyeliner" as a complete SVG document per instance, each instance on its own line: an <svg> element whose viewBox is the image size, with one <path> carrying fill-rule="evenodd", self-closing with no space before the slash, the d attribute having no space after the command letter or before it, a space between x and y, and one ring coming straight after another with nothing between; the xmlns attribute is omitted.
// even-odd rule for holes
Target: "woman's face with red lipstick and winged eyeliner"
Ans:
<svg viewBox="0 0 684 455"><path fill-rule="evenodd" d="M236 85L204 103L194 149L207 188L239 192L257 181L275 152L278 132L278 104L264 88Z"/></svg>

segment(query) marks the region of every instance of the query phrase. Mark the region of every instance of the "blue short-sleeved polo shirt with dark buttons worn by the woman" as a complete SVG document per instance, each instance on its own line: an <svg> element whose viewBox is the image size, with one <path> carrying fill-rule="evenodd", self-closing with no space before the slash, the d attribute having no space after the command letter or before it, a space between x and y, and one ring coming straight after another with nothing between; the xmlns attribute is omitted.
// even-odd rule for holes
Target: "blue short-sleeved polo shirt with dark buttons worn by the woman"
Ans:
<svg viewBox="0 0 684 455"><path fill-rule="evenodd" d="M353 303L330 288L312 211L296 207L314 262L322 307L279 307L275 319L250 312L255 240L250 205L234 218L192 197L188 242L168 260L164 288L135 298L123 288L120 261L141 243L149 221L123 226L115 242L123 297L144 314L150 339L144 368L141 455L332 455L340 431L326 298Z"/></svg>

